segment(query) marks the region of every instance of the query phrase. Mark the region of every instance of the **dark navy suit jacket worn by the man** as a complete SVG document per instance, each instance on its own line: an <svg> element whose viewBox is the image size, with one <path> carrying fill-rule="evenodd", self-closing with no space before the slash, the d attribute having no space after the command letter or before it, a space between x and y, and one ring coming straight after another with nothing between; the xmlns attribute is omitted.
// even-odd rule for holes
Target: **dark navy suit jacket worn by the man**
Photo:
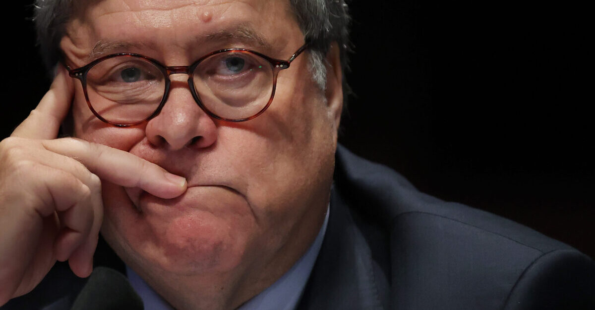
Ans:
<svg viewBox="0 0 595 310"><path fill-rule="evenodd" d="M95 261L124 272L105 244ZM113 269L87 280L57 264L2 309L134 308L138 296ZM339 146L327 234L297 308L595 309L595 262L510 220L422 194Z"/></svg>

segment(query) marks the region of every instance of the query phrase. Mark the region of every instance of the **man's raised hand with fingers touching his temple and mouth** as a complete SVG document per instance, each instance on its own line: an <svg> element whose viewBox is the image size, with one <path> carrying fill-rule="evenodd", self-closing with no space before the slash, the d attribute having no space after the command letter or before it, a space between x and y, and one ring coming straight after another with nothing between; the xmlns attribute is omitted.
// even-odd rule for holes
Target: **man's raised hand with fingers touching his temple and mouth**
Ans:
<svg viewBox="0 0 595 310"><path fill-rule="evenodd" d="M0 306L35 288L56 260L89 276L103 219L101 179L161 198L186 191L184 178L126 151L57 139L73 93L60 67L39 105L0 142Z"/></svg>

